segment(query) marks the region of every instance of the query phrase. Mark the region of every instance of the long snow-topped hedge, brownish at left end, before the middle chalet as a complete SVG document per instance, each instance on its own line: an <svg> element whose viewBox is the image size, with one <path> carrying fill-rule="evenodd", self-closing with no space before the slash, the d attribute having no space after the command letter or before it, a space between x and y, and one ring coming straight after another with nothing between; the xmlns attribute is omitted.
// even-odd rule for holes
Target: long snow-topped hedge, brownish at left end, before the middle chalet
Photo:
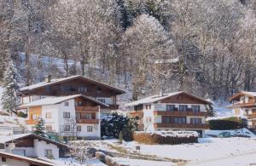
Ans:
<svg viewBox="0 0 256 166"><path fill-rule="evenodd" d="M143 144L182 144L195 143L198 139L195 131L158 131L155 133L134 133L133 138Z"/></svg>

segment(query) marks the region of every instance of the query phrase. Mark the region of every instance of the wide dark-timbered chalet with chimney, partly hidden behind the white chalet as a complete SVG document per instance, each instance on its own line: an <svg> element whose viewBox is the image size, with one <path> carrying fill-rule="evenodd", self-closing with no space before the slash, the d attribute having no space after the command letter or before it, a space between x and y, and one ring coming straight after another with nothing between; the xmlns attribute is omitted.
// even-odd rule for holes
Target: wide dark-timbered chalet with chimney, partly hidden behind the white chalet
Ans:
<svg viewBox="0 0 256 166"><path fill-rule="evenodd" d="M125 93L122 89L79 75L61 79L48 76L44 82L26 86L20 92L22 105L52 96L84 94L107 104L110 110L118 109L116 97Z"/></svg>

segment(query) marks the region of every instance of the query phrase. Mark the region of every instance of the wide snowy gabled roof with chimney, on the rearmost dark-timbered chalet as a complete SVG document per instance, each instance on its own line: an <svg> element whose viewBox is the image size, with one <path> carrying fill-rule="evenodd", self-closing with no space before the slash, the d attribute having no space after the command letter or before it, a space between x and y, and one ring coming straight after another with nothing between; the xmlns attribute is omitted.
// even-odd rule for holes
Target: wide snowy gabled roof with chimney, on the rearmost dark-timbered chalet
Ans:
<svg viewBox="0 0 256 166"><path fill-rule="evenodd" d="M102 82L90 79L89 77L84 77L84 76L81 76L81 75L76 75L76 76L72 76L72 77L64 77L64 78L60 78L60 79L52 79L50 83L42 82L42 83L32 84L30 86L23 87L22 89L20 89L20 91L25 92L25 91L40 89L40 88L43 88L45 86L54 85L56 83L63 83L63 82L71 81L73 79L77 79L77 78L88 81L90 83L99 84L102 87L106 87L108 89L112 89L112 90L116 91L118 94L124 94L125 93L125 90L123 90L123 89L118 89L118 88L115 88L111 85L108 85L107 83L102 83Z"/></svg>

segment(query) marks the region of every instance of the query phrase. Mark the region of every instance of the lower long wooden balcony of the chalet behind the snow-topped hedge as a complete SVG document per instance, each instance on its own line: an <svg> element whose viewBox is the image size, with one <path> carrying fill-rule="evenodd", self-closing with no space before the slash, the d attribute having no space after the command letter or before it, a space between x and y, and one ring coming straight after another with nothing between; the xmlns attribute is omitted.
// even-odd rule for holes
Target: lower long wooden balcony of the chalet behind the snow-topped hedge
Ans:
<svg viewBox="0 0 256 166"><path fill-rule="evenodd" d="M154 123L154 128L185 128L185 129L209 129L208 124L191 123Z"/></svg>

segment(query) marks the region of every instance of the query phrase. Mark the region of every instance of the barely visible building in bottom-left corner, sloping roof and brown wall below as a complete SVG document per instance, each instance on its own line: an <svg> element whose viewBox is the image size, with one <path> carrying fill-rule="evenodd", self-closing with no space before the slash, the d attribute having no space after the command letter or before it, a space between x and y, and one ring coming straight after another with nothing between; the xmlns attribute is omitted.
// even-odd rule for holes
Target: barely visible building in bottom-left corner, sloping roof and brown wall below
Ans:
<svg viewBox="0 0 256 166"><path fill-rule="evenodd" d="M9 152L0 152L0 165L3 166L54 166L55 163L45 162L43 160L23 157Z"/></svg>

